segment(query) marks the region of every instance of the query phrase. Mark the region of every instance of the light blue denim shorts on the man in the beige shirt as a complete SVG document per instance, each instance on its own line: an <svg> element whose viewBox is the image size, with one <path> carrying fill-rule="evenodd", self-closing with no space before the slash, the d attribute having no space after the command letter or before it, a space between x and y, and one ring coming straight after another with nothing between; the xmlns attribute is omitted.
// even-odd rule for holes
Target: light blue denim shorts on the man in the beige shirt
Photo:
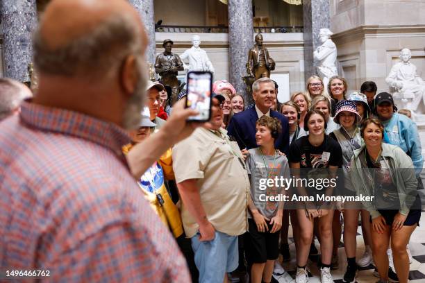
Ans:
<svg viewBox="0 0 425 283"><path fill-rule="evenodd" d="M238 268L238 236L215 231L211 241L199 241L199 232L191 238L199 283L222 283L224 275Z"/></svg>

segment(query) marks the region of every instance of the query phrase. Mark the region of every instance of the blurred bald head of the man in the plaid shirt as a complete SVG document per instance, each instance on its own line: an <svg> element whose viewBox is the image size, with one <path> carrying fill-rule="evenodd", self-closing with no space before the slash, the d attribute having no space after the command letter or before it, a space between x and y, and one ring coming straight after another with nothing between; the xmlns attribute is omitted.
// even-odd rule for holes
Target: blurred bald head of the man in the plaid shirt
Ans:
<svg viewBox="0 0 425 283"><path fill-rule="evenodd" d="M137 128L146 45L140 16L126 0L51 1L34 36L35 103Z"/></svg>

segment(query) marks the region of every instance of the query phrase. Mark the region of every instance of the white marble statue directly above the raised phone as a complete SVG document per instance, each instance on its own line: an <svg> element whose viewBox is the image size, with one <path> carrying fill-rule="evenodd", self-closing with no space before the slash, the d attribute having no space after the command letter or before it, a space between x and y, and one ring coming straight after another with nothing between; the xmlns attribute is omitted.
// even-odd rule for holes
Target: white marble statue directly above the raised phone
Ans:
<svg viewBox="0 0 425 283"><path fill-rule="evenodd" d="M193 46L190 49L180 55L181 60L183 60L184 69L188 71L210 71L214 73L213 63L208 58L206 51L199 47L199 44L201 44L199 35L192 36L192 44ZM188 62L188 65L185 64L186 62Z"/></svg>

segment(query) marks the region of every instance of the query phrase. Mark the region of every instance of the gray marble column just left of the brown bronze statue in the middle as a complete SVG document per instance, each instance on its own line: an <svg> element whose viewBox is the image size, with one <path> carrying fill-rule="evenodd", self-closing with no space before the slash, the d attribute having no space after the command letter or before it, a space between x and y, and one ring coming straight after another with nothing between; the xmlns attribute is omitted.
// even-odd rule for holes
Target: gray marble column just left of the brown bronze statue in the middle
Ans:
<svg viewBox="0 0 425 283"><path fill-rule="evenodd" d="M249 49L253 46L253 18L251 0L228 1L228 45L230 57L230 83L243 94L245 101L251 101L242 76L247 76L245 67ZM218 78L217 78L218 79Z"/></svg>

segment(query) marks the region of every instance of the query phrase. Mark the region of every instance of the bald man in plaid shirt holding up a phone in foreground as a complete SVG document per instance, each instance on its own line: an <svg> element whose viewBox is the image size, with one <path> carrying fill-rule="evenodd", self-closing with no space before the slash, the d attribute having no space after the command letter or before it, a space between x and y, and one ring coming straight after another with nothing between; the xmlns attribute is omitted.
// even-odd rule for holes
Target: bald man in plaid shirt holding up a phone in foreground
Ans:
<svg viewBox="0 0 425 283"><path fill-rule="evenodd" d="M190 282L133 176L188 137L193 127L185 120L197 113L177 104L133 156L122 154L130 142L124 129L138 126L144 105L146 45L125 0L47 6L33 44L38 95L0 123L1 273L35 269L51 282Z"/></svg>

